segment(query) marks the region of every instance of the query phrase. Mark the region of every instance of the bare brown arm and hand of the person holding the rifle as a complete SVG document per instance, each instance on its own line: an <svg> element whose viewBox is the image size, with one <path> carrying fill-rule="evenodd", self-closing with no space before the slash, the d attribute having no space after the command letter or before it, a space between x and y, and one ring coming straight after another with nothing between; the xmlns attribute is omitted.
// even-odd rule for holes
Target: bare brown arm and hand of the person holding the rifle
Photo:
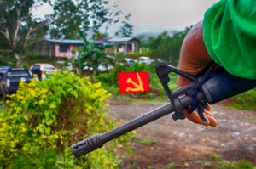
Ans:
<svg viewBox="0 0 256 169"><path fill-rule="evenodd" d="M183 41L178 69L195 76L211 61L212 59L209 56L203 41L202 23L199 22L188 32ZM189 80L183 76L177 77L177 87L183 87L188 83ZM210 110L211 106L208 104L204 111L204 116L206 117L207 121L202 121L196 110L191 114L189 114L188 110L184 110L184 114L190 121L205 126L215 127L217 125L217 121L210 113Z"/></svg>

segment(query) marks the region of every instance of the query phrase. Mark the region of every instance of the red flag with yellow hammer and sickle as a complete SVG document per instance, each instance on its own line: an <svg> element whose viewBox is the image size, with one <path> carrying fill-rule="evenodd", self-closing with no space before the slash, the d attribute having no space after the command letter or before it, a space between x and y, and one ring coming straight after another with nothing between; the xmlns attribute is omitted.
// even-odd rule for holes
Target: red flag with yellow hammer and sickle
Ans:
<svg viewBox="0 0 256 169"><path fill-rule="evenodd" d="M119 93L149 92L148 72L119 72Z"/></svg>

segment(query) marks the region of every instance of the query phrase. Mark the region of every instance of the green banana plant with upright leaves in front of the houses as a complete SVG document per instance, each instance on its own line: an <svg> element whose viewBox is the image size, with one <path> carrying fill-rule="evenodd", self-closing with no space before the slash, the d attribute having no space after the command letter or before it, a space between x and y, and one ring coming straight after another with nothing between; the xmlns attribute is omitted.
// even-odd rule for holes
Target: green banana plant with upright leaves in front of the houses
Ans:
<svg viewBox="0 0 256 169"><path fill-rule="evenodd" d="M79 33L84 40L84 48L81 52L79 52L78 59L75 60L75 65L77 68L79 68L79 72L83 72L85 70L88 72L88 74L93 74L96 72L96 75L99 75L100 64L107 66L108 62L113 63L113 58L109 58L104 53L104 49L109 48L109 46L95 47L95 41L99 36L98 32L96 33L94 42L89 42L82 31L79 31Z"/></svg>

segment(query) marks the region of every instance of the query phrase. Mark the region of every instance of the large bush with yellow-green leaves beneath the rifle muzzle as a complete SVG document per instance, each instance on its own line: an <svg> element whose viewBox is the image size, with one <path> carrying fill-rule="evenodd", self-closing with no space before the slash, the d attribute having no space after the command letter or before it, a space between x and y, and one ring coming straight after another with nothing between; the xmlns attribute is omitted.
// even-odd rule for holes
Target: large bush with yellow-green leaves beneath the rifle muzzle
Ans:
<svg viewBox="0 0 256 169"><path fill-rule="evenodd" d="M75 158L70 144L114 127L104 113L109 93L70 71L49 80L20 83L0 111L0 164L14 168L117 168L113 153L121 137L90 155ZM104 160L103 160L104 159ZM99 162L101 161L101 162Z"/></svg>

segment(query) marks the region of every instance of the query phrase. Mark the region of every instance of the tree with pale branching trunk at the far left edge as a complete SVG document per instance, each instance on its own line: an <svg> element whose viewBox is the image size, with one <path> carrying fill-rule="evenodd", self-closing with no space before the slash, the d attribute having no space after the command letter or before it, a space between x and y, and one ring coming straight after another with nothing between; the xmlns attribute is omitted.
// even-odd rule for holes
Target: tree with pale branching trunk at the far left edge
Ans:
<svg viewBox="0 0 256 169"><path fill-rule="evenodd" d="M46 20L32 17L32 8L43 1L2 0L0 1L0 37L5 44L0 48L9 49L15 55L16 66L21 66L21 54L38 39L44 37L47 30Z"/></svg>

